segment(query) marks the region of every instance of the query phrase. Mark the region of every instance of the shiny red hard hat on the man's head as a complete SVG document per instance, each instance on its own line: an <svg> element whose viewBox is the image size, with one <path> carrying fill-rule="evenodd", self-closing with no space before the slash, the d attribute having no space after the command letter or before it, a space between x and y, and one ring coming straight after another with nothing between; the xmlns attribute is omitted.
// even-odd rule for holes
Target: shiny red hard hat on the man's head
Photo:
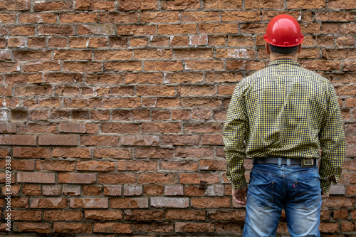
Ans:
<svg viewBox="0 0 356 237"><path fill-rule="evenodd" d="M281 14L268 23L263 38L273 46L293 47L302 43L304 36L300 33L299 23L293 16Z"/></svg>

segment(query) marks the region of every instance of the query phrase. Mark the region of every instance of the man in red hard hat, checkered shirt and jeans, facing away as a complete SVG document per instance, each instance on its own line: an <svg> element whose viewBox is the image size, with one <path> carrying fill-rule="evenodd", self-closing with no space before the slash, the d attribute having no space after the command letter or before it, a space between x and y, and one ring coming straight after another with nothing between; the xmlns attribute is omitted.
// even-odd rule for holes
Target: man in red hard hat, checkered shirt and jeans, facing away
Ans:
<svg viewBox="0 0 356 237"><path fill-rule="evenodd" d="M276 16L264 39L270 63L236 85L226 115L226 177L234 201L246 205L244 236L276 236L283 208L291 236L320 236L322 199L345 157L340 107L333 85L298 64L298 21Z"/></svg>

